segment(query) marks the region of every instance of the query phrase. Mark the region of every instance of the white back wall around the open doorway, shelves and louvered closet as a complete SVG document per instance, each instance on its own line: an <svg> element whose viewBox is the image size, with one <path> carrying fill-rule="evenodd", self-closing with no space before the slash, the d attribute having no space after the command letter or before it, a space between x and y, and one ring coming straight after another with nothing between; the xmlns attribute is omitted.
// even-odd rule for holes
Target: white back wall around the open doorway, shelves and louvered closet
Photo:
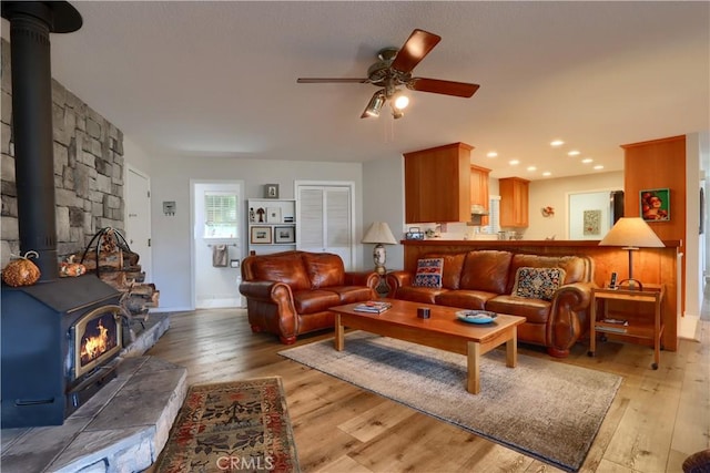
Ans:
<svg viewBox="0 0 710 473"><path fill-rule="evenodd" d="M356 226L362 228L363 165L235 157L154 156L151 161L153 215L153 281L159 310L191 310L190 179L241 179L244 197L262 197L264 184L278 184L280 197L294 197L294 179L355 182ZM175 202L175 215L163 214L163 202ZM245 240L246 235L241 236ZM244 255L243 255L244 256ZM362 246L355 261L362 261Z"/></svg>

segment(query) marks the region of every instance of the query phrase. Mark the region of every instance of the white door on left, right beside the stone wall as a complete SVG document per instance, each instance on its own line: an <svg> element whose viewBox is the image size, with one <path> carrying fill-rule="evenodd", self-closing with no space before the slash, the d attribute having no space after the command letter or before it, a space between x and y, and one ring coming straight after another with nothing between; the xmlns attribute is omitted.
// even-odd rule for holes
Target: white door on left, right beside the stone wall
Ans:
<svg viewBox="0 0 710 473"><path fill-rule="evenodd" d="M125 187L125 239L131 251L138 253L148 282L152 280L151 182L145 174L128 166Z"/></svg>

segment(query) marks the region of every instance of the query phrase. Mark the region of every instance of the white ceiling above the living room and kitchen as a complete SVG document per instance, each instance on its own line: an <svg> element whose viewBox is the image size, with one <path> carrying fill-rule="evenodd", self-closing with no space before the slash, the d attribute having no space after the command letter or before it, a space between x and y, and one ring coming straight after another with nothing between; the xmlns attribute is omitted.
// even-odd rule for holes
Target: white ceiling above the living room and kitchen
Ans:
<svg viewBox="0 0 710 473"><path fill-rule="evenodd" d="M706 1L73 4L84 24L51 35L52 75L151 153L365 162L465 142L491 176L537 179L710 130ZM415 28L443 39L414 75L480 84L471 99L412 92L404 119L362 120L373 85L296 84L365 78Z"/></svg>

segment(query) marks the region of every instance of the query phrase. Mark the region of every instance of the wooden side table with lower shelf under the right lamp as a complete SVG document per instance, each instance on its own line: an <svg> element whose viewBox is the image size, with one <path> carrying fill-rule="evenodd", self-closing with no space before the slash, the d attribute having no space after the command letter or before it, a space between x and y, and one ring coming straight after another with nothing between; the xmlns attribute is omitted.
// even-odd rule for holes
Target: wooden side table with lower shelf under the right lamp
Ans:
<svg viewBox="0 0 710 473"><path fill-rule="evenodd" d="M643 285L642 290L629 288L594 288L591 290L591 313L589 317L589 354L595 356L597 346L597 332L618 333L637 339L653 340L653 363L651 367L657 370L660 363L661 337L663 335L663 297L666 296L666 285ZM602 306L602 317L597 320L597 300ZM653 305L653 320L631 320L628 325L605 322L609 320L609 301L626 300L635 302L647 302Z"/></svg>

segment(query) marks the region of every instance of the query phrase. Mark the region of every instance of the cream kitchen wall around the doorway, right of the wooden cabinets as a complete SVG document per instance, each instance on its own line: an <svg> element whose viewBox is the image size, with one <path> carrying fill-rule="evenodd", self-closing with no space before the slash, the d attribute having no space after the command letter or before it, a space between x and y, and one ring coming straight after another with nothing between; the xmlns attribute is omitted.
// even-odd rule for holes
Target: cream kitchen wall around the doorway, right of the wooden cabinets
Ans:
<svg viewBox="0 0 710 473"><path fill-rule="evenodd" d="M565 239L568 194L606 189L623 189L622 171L530 182L529 226L524 238L539 240L555 235L555 239ZM554 217L542 216L540 209L547 206L555 207Z"/></svg>

